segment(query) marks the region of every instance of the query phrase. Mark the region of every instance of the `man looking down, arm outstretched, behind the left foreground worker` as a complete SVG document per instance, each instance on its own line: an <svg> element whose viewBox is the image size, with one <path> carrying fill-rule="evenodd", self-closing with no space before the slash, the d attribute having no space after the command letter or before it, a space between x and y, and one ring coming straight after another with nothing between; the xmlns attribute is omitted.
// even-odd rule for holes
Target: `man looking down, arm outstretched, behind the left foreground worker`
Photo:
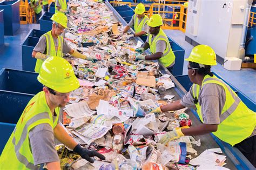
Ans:
<svg viewBox="0 0 256 170"><path fill-rule="evenodd" d="M32 52L32 57L37 59L35 72L39 73L42 63L49 56L63 57L63 53L66 52L69 52L71 56L76 58L91 60L92 62L97 61L95 58L82 55L76 50L71 49L66 40L60 36L64 32L64 29L67 28L68 24L68 18L64 13L55 13L51 17L51 20L53 21L52 30L46 32L39 38Z"/></svg>

